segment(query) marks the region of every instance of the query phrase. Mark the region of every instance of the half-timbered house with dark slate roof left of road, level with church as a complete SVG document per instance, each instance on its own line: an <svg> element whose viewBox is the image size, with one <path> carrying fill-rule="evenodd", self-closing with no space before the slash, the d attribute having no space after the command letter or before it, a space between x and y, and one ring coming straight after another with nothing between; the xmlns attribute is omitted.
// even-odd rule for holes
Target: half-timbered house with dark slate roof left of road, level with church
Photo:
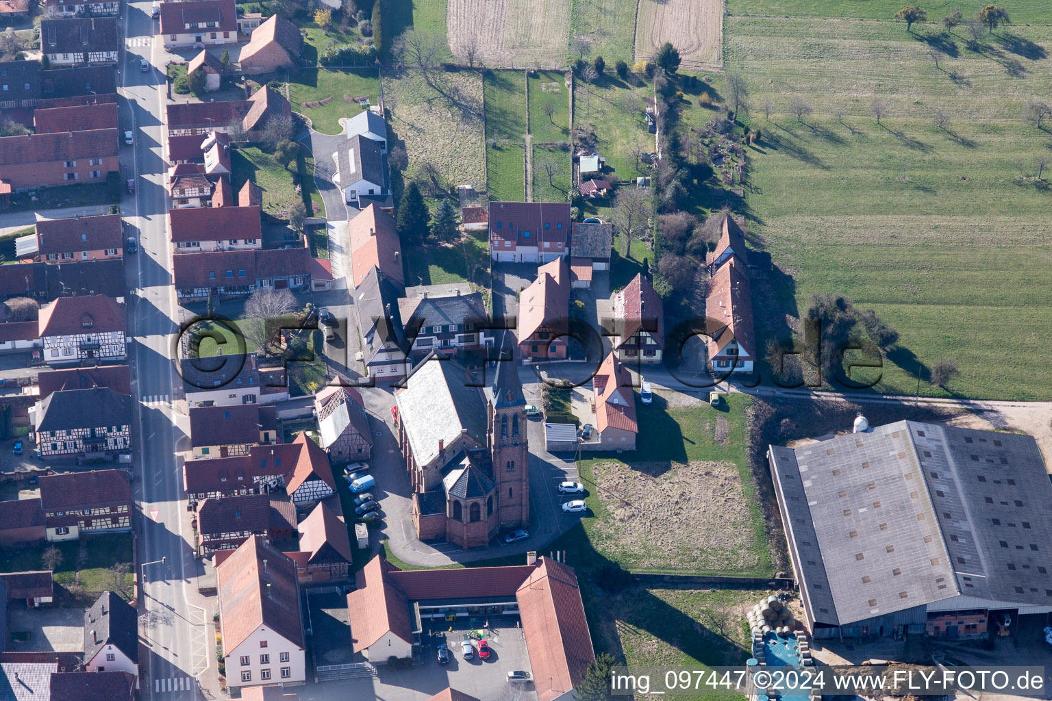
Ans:
<svg viewBox="0 0 1052 701"><path fill-rule="evenodd" d="M132 530L132 483L124 470L65 472L40 477L47 540L76 540L81 533Z"/></svg>

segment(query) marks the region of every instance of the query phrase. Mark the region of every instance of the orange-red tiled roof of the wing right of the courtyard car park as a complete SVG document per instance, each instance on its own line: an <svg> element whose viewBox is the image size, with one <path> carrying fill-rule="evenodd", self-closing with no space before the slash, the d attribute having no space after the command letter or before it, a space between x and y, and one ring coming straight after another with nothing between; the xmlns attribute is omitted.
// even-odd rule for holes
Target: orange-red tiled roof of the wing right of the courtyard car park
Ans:
<svg viewBox="0 0 1052 701"><path fill-rule="evenodd" d="M551 701L576 686L595 659L578 578L541 558L517 598L538 701Z"/></svg>

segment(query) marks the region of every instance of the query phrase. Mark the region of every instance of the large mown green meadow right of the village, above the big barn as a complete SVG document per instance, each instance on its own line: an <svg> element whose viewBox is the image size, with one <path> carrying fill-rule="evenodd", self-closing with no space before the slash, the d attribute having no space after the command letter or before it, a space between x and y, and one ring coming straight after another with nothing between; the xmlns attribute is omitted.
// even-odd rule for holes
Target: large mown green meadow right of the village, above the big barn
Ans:
<svg viewBox="0 0 1052 701"><path fill-rule="evenodd" d="M1034 178L1052 136L1020 120L1052 79L1048 60L1028 58L1052 46L1052 27L998 30L983 54L889 22L732 17L727 27L728 65L746 77L764 132L749 160L750 228L793 274L757 336L780 333L812 293L843 293L899 333L882 391L913 393L918 369L925 379L949 357L960 371L950 393L1052 396L1037 350L1052 341L1050 193ZM938 69L936 41L950 55ZM795 96L814 109L802 122ZM887 106L881 125L874 96ZM945 129L937 109L951 117ZM920 392L948 393L927 382Z"/></svg>

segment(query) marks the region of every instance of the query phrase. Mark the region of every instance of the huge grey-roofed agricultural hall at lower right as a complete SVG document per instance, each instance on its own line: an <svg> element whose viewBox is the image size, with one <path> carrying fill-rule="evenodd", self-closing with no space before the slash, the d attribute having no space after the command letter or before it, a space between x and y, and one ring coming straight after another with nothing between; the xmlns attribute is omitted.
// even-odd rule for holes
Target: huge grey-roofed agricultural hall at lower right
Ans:
<svg viewBox="0 0 1052 701"><path fill-rule="evenodd" d="M897 421L768 457L815 637L1052 612L1052 483L1031 436Z"/></svg>

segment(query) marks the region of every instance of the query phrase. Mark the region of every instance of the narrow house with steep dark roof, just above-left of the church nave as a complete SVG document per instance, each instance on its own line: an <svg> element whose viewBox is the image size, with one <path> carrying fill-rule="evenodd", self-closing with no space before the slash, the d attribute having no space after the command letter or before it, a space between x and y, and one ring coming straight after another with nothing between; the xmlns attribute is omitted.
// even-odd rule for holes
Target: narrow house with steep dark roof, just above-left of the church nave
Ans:
<svg viewBox="0 0 1052 701"><path fill-rule="evenodd" d="M352 292L362 334L362 363L370 377L398 379L407 371L407 349L398 311L404 289L373 266Z"/></svg>

